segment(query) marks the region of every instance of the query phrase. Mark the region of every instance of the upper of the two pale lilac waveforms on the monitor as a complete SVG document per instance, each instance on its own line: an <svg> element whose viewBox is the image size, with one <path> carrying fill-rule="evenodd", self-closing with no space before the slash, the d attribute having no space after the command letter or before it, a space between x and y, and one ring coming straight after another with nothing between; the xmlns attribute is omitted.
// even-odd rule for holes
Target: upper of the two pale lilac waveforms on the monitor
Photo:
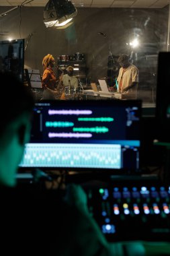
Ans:
<svg viewBox="0 0 170 256"><path fill-rule="evenodd" d="M55 110L55 109L49 109L48 115L91 115L91 110L79 110L79 109L62 109L62 110Z"/></svg>

